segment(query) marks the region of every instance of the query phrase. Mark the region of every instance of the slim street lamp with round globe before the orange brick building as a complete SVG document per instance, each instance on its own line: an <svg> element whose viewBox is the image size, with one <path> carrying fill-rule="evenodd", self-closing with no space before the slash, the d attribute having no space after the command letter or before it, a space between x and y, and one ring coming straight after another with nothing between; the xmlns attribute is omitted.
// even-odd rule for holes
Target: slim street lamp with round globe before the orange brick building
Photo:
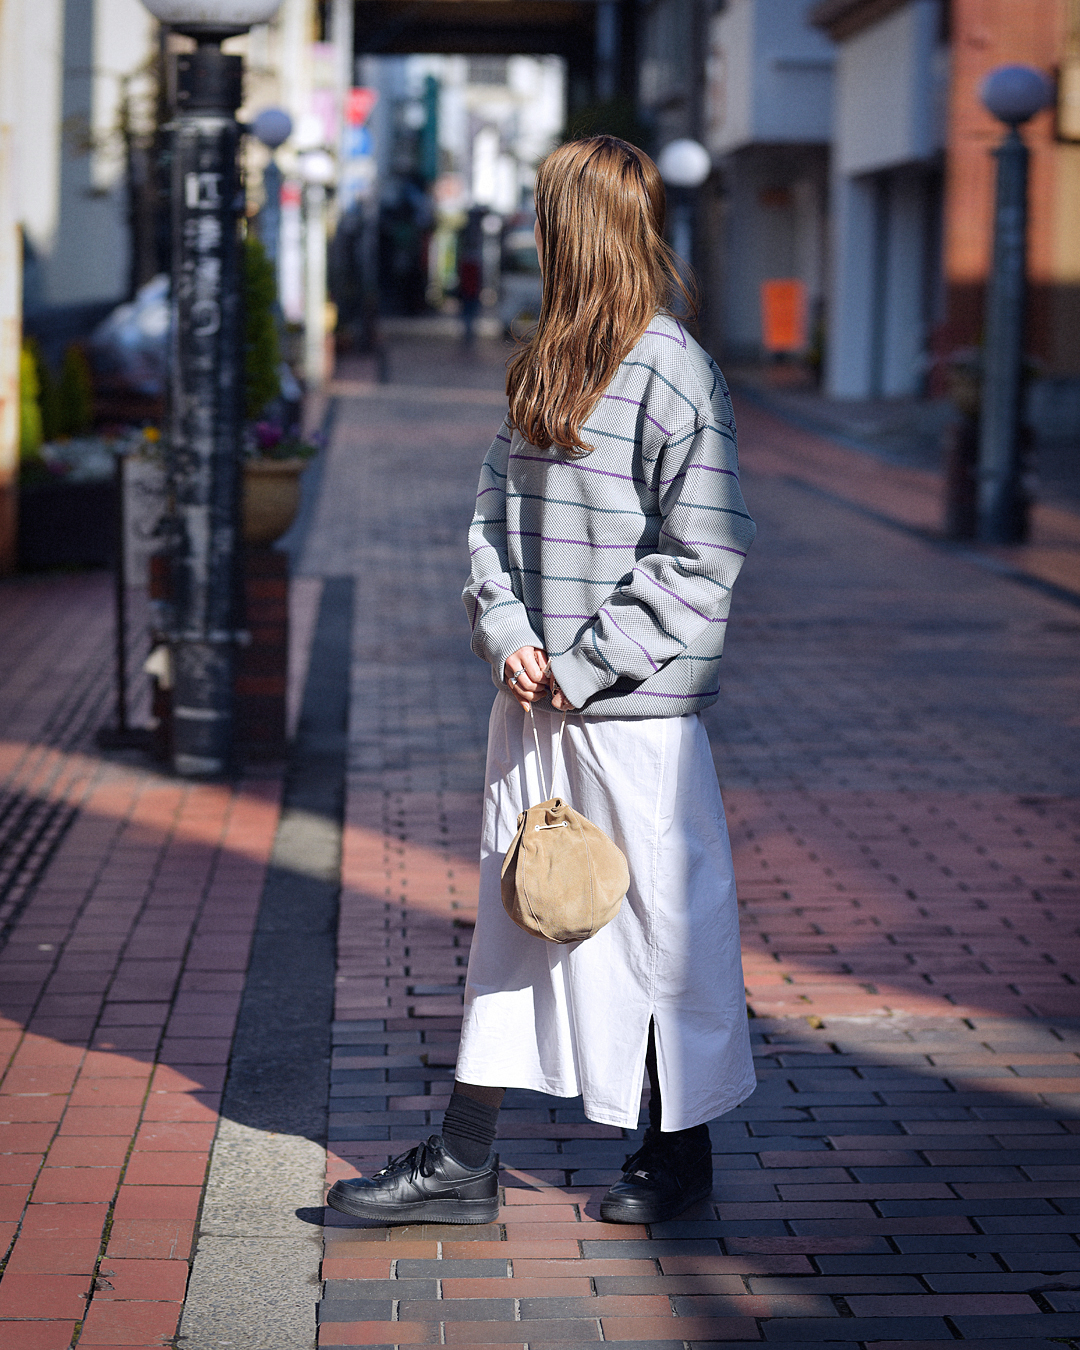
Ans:
<svg viewBox="0 0 1080 1350"><path fill-rule="evenodd" d="M987 289L979 435L979 537L1017 544L1027 533L1023 491L1023 317L1027 262L1027 146L1018 127L1053 99L1050 81L1030 66L999 66L979 90L987 112L1008 131L994 150L994 263Z"/></svg>

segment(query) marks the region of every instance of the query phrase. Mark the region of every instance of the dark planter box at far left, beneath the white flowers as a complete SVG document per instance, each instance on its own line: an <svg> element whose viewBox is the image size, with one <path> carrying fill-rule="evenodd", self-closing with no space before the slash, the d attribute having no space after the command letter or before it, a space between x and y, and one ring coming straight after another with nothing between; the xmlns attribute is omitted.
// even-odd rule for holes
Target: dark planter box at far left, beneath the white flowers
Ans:
<svg viewBox="0 0 1080 1350"><path fill-rule="evenodd" d="M34 483L19 489L19 567L108 567L113 548L111 482Z"/></svg>

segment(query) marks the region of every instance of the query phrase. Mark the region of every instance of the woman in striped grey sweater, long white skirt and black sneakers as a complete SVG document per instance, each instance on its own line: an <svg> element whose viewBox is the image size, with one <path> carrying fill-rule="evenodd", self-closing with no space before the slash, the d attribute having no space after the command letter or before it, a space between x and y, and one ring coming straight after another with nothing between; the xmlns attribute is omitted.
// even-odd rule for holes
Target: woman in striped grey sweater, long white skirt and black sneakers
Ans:
<svg viewBox="0 0 1080 1350"><path fill-rule="evenodd" d="M540 167L544 300L510 362L483 464L464 601L498 686L481 894L443 1134L329 1203L400 1223L485 1223L506 1087L583 1095L649 1127L605 1196L655 1223L711 1192L706 1122L755 1087L724 805L701 710L720 694L730 591L755 526L724 377L668 305L682 293L652 161L614 136ZM532 718L544 763L536 763ZM559 733L562 755L555 770ZM559 946L501 903L502 857L541 784L626 855L618 915Z"/></svg>

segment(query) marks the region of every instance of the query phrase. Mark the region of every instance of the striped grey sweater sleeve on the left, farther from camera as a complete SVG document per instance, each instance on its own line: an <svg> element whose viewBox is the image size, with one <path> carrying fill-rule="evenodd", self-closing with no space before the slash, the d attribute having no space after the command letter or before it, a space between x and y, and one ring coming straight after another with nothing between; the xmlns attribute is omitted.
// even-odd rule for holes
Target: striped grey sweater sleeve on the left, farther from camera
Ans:
<svg viewBox="0 0 1080 1350"><path fill-rule="evenodd" d="M506 657L543 647L518 598L506 556L506 467L510 435L504 421L481 468L477 509L468 529L470 574L462 599L473 625L473 651L502 682Z"/></svg>

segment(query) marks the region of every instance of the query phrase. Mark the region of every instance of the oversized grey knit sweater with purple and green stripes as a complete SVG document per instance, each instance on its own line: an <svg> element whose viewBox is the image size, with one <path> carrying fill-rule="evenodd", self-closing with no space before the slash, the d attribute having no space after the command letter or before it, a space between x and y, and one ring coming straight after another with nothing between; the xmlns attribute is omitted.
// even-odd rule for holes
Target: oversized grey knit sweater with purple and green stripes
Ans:
<svg viewBox="0 0 1080 1350"><path fill-rule="evenodd" d="M587 717L682 717L714 703L732 586L755 524L713 359L657 315L616 371L574 458L508 423L481 470L464 603L502 684L543 647Z"/></svg>

